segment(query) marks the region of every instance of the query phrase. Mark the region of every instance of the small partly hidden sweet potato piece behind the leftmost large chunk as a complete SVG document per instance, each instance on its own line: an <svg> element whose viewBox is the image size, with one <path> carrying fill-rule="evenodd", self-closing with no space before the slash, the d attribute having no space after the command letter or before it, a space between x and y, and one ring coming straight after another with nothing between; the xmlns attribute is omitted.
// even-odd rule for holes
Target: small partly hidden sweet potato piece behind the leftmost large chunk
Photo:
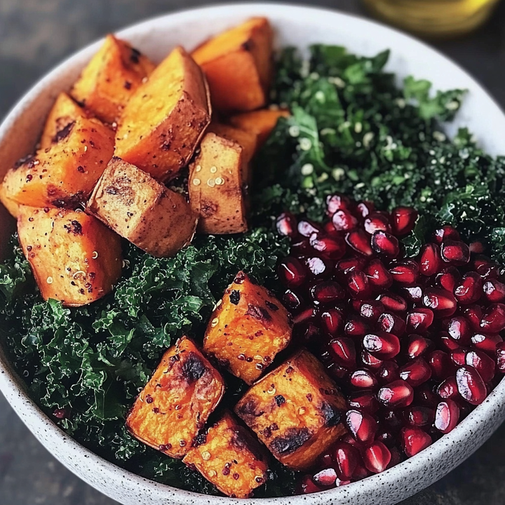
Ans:
<svg viewBox="0 0 505 505"><path fill-rule="evenodd" d="M50 149L53 144L59 142L61 136L65 135L70 123L88 116L86 109L72 100L72 97L67 93L60 93L46 119L41 137L41 149Z"/></svg>

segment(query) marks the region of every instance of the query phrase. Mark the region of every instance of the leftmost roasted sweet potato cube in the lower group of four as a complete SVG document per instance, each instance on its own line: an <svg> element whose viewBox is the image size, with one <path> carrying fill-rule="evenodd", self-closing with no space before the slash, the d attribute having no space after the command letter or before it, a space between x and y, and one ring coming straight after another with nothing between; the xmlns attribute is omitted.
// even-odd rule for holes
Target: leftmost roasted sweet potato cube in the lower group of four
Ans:
<svg viewBox="0 0 505 505"><path fill-rule="evenodd" d="M135 400L126 426L143 443L182 458L224 394L224 381L194 342L170 347Z"/></svg>

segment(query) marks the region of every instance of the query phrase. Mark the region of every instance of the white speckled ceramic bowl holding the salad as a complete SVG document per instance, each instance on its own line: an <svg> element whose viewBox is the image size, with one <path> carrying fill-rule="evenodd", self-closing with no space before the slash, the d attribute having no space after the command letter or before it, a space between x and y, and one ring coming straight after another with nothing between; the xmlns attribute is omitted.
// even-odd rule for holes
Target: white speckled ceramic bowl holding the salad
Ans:
<svg viewBox="0 0 505 505"><path fill-rule="evenodd" d="M449 128L469 126L478 142L491 154L505 152L505 116L485 90L435 50L410 36L377 23L333 11L280 4L239 4L198 8L142 22L122 32L155 61L176 44L196 46L211 34L236 25L252 15L268 16L278 46L306 48L310 43L336 43L363 55L391 48L388 69L399 78L409 74L433 81L436 89L466 88L469 95L457 121ZM69 58L36 84L0 126L0 177L15 160L32 151L46 113L56 95L67 90L82 67L100 46L100 41ZM0 209L0 244L12 228ZM152 481L123 471L97 457L69 438L30 400L20 380L0 349L0 389L41 443L88 484L124 505L144 504L243 504L240 499L208 497ZM359 483L303 497L250 499L248 504L353 504L389 505L405 499L443 477L476 450L505 419L505 382L474 410L454 431L408 461Z"/></svg>

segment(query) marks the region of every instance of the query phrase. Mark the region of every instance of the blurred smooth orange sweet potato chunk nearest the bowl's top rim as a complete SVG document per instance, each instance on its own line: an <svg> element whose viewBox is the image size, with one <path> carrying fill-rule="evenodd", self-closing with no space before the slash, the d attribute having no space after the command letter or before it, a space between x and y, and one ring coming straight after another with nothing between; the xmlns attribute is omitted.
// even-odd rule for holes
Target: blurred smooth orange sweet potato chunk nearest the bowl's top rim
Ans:
<svg viewBox="0 0 505 505"><path fill-rule="evenodd" d="M267 103L273 38L267 18L252 18L194 50L216 109L249 111Z"/></svg>

